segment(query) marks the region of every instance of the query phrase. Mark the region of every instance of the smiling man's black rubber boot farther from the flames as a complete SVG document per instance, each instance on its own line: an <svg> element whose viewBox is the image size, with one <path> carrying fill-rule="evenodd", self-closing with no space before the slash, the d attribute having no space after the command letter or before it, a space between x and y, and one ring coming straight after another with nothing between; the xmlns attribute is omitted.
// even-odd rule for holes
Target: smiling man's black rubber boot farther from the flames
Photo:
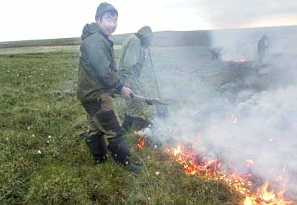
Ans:
<svg viewBox="0 0 297 205"><path fill-rule="evenodd" d="M104 136L92 135L85 139L85 143L89 147L91 154L93 154L96 163L104 163L107 158L108 147Z"/></svg>

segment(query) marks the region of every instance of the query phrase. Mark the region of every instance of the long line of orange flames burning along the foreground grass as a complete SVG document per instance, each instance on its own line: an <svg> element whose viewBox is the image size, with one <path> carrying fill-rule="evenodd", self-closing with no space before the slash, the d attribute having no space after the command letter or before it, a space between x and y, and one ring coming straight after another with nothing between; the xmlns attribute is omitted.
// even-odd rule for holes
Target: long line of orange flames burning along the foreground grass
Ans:
<svg viewBox="0 0 297 205"><path fill-rule="evenodd" d="M207 160L201 154L187 150L182 145L177 145L176 148L167 149L167 154L171 155L174 161L183 166L184 172L187 175L201 175L209 179L224 181L228 186L237 190L245 196L244 205L290 205L292 201L284 199L285 190L280 193L275 193L273 190L267 191L269 182L257 190L257 193L252 193L252 182L248 181L253 175L239 176L232 172L224 173L221 171L221 161L219 159ZM249 166L253 164L252 160L247 160Z"/></svg>

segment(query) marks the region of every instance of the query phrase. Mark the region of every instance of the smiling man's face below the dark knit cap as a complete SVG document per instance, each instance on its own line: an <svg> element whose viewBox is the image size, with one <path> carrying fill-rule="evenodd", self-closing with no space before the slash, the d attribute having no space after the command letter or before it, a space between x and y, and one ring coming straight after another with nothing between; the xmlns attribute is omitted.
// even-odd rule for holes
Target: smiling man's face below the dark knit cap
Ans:
<svg viewBox="0 0 297 205"><path fill-rule="evenodd" d="M97 19L97 24L100 30L106 35L110 36L117 28L117 15L112 15L110 12L105 12L103 17Z"/></svg>

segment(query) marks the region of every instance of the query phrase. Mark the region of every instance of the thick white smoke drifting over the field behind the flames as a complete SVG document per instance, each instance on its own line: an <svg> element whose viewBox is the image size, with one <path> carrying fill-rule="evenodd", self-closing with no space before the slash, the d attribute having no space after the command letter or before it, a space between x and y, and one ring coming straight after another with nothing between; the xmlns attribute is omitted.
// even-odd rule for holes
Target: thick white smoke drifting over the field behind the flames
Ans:
<svg viewBox="0 0 297 205"><path fill-rule="evenodd" d="M242 41L254 42L248 46L237 46L238 36L228 35L224 39L226 35L221 35L219 39L218 34L214 35L217 44L225 46L228 42L228 50L238 48L229 57L254 53L249 57L255 62L233 68L235 64L212 62L207 48L154 48L162 93L180 99L181 103L169 108L166 120L154 119L151 140L165 147L194 142L197 152L221 157L239 174L253 172L271 181L288 177L291 189L296 192L296 46L280 45L286 38L272 35L274 47L265 62L259 64L255 56L259 33L248 33L246 39L241 35ZM286 47L289 49L281 50ZM246 51L240 53L241 50ZM229 69L227 77L226 69ZM247 74L232 79L230 71L236 69ZM231 81L224 90L221 78ZM247 159L254 161L252 167L246 166Z"/></svg>

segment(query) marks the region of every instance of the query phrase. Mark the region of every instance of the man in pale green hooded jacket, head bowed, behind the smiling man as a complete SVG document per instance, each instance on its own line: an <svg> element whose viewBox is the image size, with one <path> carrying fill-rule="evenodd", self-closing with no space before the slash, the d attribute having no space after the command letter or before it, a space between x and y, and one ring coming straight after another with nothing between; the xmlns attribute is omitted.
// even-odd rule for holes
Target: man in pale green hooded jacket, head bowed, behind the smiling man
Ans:
<svg viewBox="0 0 297 205"><path fill-rule="evenodd" d="M145 53L151 43L153 31L144 26L137 33L127 37L121 45L121 58L118 69L121 81L125 87L133 89L137 95L141 94L142 82L139 80L144 66ZM127 112L123 121L123 128L127 132L130 127L141 130L145 127L144 103L139 100L126 100Z"/></svg>

